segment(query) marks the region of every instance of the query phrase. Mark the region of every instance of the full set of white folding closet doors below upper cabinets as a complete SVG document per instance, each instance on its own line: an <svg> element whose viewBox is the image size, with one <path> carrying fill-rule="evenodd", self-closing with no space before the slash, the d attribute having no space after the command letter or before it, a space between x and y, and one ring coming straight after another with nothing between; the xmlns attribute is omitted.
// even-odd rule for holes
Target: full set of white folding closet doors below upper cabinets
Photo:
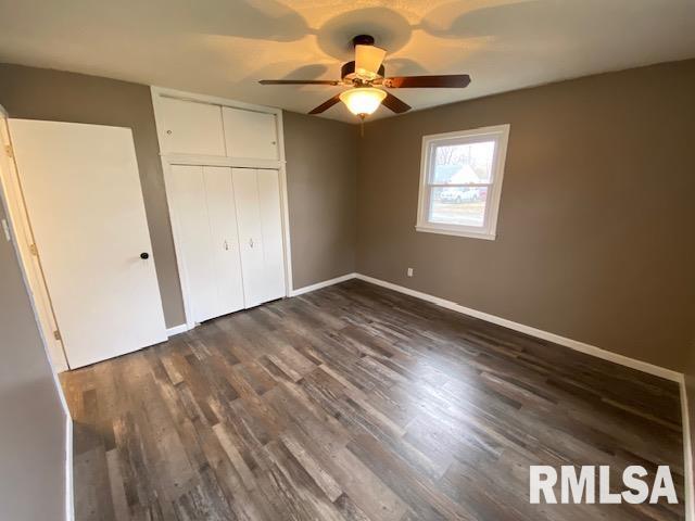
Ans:
<svg viewBox="0 0 695 521"><path fill-rule="evenodd" d="M278 170L172 165L169 180L191 318L285 296Z"/></svg>

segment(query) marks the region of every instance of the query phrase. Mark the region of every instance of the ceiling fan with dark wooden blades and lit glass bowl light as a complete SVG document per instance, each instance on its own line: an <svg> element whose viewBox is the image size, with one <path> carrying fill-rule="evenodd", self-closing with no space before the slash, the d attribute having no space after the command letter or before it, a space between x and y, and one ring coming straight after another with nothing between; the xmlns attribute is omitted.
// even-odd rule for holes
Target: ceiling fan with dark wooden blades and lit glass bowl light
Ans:
<svg viewBox="0 0 695 521"><path fill-rule="evenodd" d="M358 116L362 120L372 114L381 103L395 112L402 114L410 110L410 105L400 100L391 92L378 87L388 89L422 89L422 88L464 88L470 84L470 76L467 74L452 74L440 76L396 76L384 77L383 59L387 55L384 49L374 45L374 37L369 35L358 35L352 39L355 48L355 60L343 63L340 79L262 79L261 85L329 85L352 86L331 99L325 101L309 114L320 114L336 103L342 101L350 112Z"/></svg>

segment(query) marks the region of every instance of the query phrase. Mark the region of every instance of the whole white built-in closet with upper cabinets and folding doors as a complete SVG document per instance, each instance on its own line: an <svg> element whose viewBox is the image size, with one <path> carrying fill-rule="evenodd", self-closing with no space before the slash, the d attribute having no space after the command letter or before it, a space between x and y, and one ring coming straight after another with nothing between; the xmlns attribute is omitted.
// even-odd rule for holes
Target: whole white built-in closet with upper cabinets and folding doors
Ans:
<svg viewBox="0 0 695 521"><path fill-rule="evenodd" d="M187 328L285 296L281 111L159 88L152 99Z"/></svg>

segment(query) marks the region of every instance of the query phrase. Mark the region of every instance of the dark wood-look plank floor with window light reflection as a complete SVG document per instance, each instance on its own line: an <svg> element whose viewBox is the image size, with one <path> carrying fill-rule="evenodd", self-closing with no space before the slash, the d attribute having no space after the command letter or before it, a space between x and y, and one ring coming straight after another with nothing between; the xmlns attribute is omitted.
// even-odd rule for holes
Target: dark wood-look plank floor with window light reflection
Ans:
<svg viewBox="0 0 695 521"><path fill-rule="evenodd" d="M77 521L684 517L677 384L365 282L62 380ZM529 504L582 463L670 465L681 505Z"/></svg>

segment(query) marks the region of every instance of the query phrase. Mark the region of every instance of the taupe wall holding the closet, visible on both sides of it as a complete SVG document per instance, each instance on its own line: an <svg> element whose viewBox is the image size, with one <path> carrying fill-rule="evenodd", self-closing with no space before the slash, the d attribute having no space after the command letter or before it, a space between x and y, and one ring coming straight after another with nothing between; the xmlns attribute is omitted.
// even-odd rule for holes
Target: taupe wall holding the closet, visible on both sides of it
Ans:
<svg viewBox="0 0 695 521"><path fill-rule="evenodd" d="M130 127L167 327L185 322L150 88L0 64L10 117ZM355 127L285 114L294 288L354 270Z"/></svg>

